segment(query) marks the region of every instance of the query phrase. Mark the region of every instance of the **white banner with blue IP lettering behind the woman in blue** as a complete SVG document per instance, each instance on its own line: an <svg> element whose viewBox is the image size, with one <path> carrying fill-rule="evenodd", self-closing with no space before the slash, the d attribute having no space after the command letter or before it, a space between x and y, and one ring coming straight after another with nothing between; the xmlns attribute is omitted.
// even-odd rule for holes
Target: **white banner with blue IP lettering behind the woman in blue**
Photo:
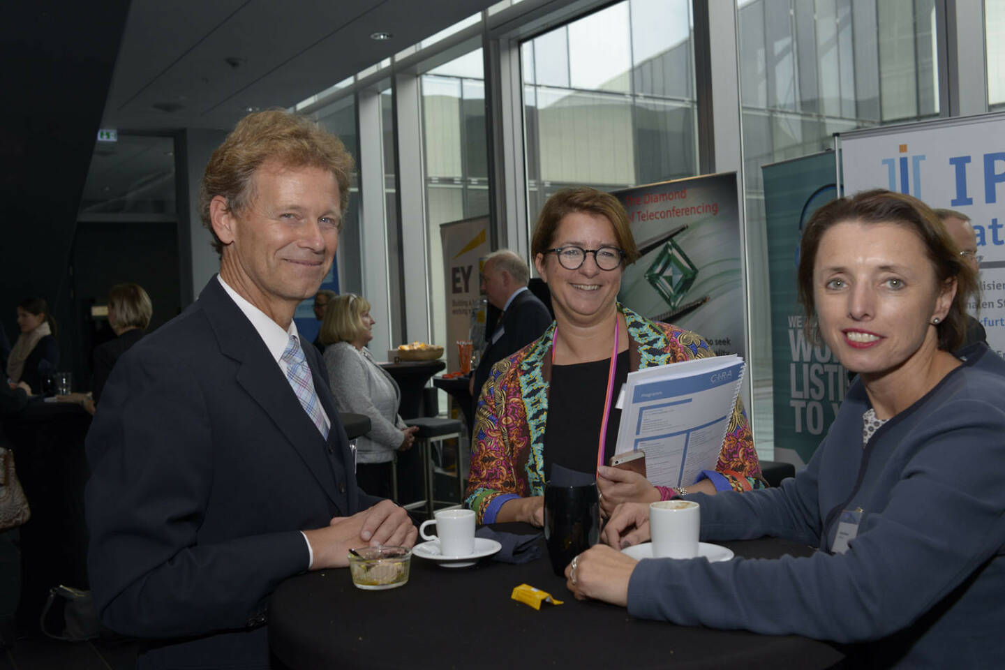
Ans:
<svg viewBox="0 0 1005 670"><path fill-rule="evenodd" d="M988 345L1005 354L1005 114L946 119L839 136L844 193L883 188L970 217L981 256ZM978 309L979 307L979 309Z"/></svg>

